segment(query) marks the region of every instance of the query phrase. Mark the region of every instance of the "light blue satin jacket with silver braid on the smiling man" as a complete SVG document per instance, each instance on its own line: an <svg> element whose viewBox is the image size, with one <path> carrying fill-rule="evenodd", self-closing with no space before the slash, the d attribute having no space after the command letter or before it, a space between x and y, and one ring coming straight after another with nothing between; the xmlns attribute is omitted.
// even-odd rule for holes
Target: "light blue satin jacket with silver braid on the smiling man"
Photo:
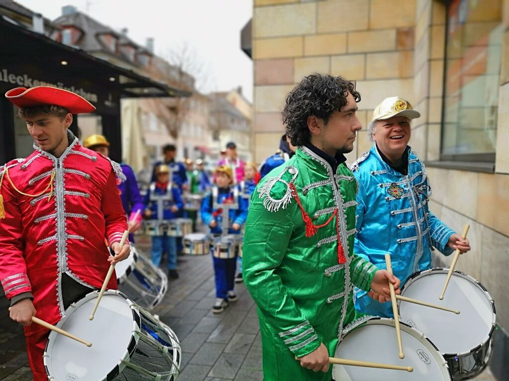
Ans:
<svg viewBox="0 0 509 381"><path fill-rule="evenodd" d="M431 186L426 168L410 150L408 174L391 168L376 145L351 164L359 191L354 251L379 269L386 269L385 254L391 256L392 271L403 285L415 272L430 269L432 247L445 255L454 233L428 209ZM392 317L390 302L379 303L357 290L355 308L370 315Z"/></svg>

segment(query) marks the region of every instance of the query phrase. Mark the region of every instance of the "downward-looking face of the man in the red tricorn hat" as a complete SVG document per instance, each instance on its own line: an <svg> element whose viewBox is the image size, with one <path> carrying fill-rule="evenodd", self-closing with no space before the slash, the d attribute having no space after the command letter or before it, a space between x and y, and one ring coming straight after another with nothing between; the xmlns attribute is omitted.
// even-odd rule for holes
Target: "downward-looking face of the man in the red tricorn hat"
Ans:
<svg viewBox="0 0 509 381"><path fill-rule="evenodd" d="M34 138L39 148L55 157L60 157L69 141L67 129L72 123L72 114L60 116L38 113L34 116L23 118L29 134Z"/></svg>

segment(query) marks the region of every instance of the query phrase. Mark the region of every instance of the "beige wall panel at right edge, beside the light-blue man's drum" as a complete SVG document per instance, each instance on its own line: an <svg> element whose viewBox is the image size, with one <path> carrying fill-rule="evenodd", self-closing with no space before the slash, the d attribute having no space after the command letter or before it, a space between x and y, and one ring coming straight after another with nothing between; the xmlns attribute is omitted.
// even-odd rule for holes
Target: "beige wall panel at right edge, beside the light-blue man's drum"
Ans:
<svg viewBox="0 0 509 381"><path fill-rule="evenodd" d="M509 329L509 292L507 292L509 250L507 248L509 248L509 238L492 229L486 227L483 229L480 282L488 289L495 301L497 324L505 330Z"/></svg>

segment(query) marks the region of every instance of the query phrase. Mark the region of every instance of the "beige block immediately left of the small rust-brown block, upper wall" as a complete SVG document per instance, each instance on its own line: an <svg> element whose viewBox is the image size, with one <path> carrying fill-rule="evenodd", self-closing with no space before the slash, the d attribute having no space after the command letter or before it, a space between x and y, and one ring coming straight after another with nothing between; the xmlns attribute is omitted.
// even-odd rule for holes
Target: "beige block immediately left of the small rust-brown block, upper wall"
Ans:
<svg viewBox="0 0 509 381"><path fill-rule="evenodd" d="M396 30L351 32L348 34L348 51L371 52L396 49Z"/></svg>

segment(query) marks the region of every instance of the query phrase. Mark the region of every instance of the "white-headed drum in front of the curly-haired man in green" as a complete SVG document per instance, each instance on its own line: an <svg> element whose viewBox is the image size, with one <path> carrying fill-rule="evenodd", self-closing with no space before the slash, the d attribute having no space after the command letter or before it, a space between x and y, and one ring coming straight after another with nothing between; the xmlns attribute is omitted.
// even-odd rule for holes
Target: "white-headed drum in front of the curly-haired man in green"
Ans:
<svg viewBox="0 0 509 381"><path fill-rule="evenodd" d="M398 357L394 320L366 317L365 326L346 327L336 357L391 365L412 366L413 372L334 365L332 378L341 381L450 381L447 362L435 346L416 329L400 324L405 359ZM363 323L359 320L358 323Z"/></svg>

